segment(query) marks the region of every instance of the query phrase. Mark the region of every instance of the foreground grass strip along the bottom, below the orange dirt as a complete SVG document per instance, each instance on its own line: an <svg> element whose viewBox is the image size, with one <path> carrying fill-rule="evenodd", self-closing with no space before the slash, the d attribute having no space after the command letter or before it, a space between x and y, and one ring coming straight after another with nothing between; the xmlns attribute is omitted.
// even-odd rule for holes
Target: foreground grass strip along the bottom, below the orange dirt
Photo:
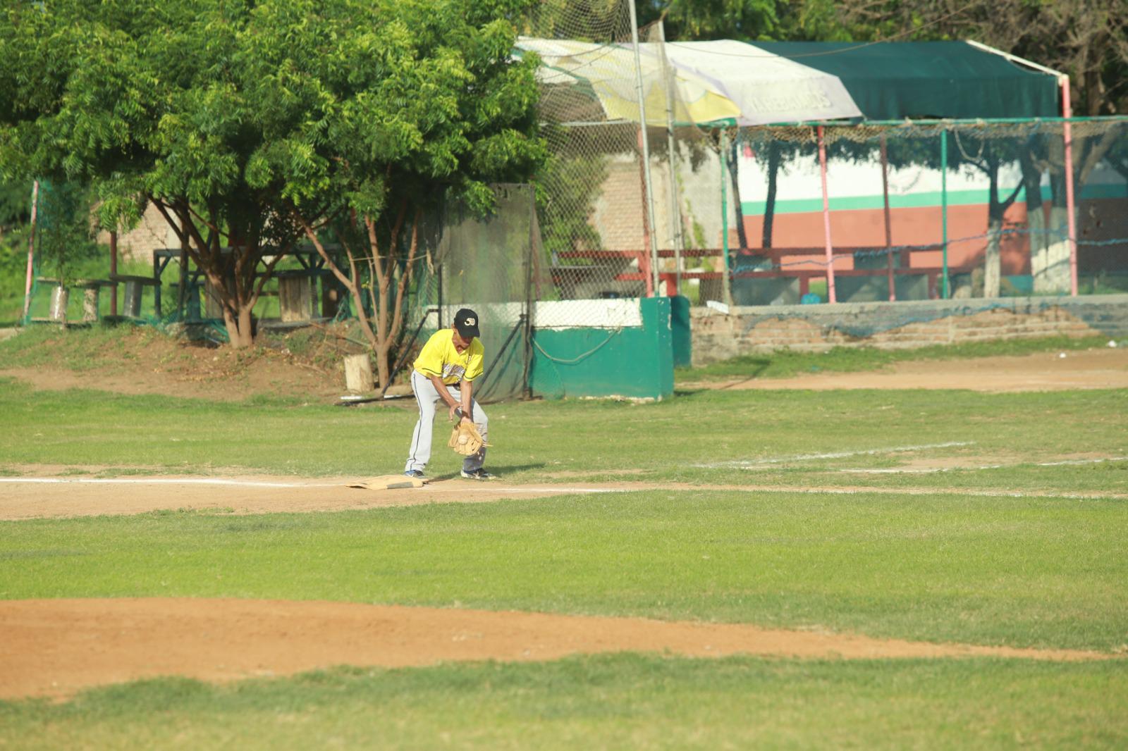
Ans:
<svg viewBox="0 0 1128 751"><path fill-rule="evenodd" d="M146 681L0 704L36 749L1122 748L1128 672L993 660L643 655Z"/></svg>

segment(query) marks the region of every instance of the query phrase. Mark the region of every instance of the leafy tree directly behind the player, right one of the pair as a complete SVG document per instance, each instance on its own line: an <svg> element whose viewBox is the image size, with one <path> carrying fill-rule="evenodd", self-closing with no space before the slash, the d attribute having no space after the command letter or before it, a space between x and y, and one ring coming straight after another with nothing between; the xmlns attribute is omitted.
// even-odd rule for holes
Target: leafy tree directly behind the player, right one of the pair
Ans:
<svg viewBox="0 0 1128 751"><path fill-rule="evenodd" d="M247 184L276 192L347 289L384 385L423 221L442 201L488 213L488 183L544 159L537 61L510 56L528 5L293 0L253 15L247 96L271 115Z"/></svg>

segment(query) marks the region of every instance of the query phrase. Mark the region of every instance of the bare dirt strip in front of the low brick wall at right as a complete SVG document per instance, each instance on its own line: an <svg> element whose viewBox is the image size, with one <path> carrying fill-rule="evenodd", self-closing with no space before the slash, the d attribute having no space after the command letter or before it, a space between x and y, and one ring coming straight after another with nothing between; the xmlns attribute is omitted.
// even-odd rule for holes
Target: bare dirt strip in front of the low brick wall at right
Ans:
<svg viewBox="0 0 1128 751"><path fill-rule="evenodd" d="M679 389L970 389L1055 391L1128 388L1128 347L971 360L916 360L887 370L678 383Z"/></svg>

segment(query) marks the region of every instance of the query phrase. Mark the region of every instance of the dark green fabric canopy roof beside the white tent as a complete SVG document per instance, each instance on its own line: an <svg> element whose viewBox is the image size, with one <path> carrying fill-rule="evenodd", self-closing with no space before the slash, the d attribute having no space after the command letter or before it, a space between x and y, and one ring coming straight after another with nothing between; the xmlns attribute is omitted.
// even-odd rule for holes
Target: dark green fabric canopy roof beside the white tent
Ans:
<svg viewBox="0 0 1128 751"><path fill-rule="evenodd" d="M967 42L752 42L837 76L866 120L1056 117L1052 74Z"/></svg>

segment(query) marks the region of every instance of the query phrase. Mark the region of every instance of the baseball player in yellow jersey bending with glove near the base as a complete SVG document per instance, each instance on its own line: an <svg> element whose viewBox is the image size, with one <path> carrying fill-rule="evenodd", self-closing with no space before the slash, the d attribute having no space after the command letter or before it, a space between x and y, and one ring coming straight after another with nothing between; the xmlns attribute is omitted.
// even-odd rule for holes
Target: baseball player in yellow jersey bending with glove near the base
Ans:
<svg viewBox="0 0 1128 751"><path fill-rule="evenodd" d="M420 407L420 419L415 423L412 447L407 454L404 474L423 477L423 470L431 458L431 436L435 405L441 400L447 406L450 419L457 416L469 419L486 440L488 421L486 413L474 400L474 379L482 374L485 351L478 339L478 315L469 308L455 313L450 328L435 332L420 356L412 363L412 392ZM467 479L493 479L494 476L482 468L486 449L466 457L462 461L462 477Z"/></svg>

